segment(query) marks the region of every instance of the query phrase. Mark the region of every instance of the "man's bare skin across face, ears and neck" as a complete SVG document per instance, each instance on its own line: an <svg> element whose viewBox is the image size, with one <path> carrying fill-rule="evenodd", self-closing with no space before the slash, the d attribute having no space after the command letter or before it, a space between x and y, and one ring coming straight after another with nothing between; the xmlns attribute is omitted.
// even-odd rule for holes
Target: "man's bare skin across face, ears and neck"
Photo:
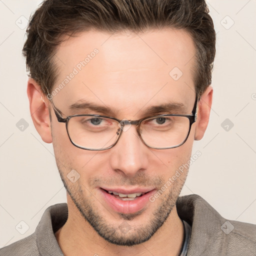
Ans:
<svg viewBox="0 0 256 256"><path fill-rule="evenodd" d="M109 106L113 109L109 116L119 119L142 118L146 107L170 101L183 103L185 113L191 114L195 100L195 48L187 32L166 28L144 33L79 33L57 49L59 74L55 87L94 48L98 53L52 98L63 117L96 113L82 109L71 112L68 106L79 99ZM173 67L183 73L176 81L169 75ZM124 131L110 149L77 148L70 143L65 124L57 121L49 100L41 97L32 78L28 80L27 94L35 128L44 142L53 143L56 164L67 189L68 219L55 233L64 255L179 255L184 232L175 202L188 169L154 202L135 213L114 211L104 201L99 187L160 189L180 165L187 163L193 140L203 137L212 87L208 86L201 96L197 121L192 124L187 141L163 150L143 144L135 125ZM67 178L72 169L80 175L74 183ZM123 225L128 225L128 232L122 231Z"/></svg>

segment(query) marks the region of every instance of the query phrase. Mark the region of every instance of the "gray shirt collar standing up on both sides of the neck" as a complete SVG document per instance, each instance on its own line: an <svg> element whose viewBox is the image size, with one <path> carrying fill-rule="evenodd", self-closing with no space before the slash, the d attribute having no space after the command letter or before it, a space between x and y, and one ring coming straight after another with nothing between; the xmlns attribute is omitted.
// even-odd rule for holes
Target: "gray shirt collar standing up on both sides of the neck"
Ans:
<svg viewBox="0 0 256 256"><path fill-rule="evenodd" d="M225 219L202 197L196 194L179 196L176 208L179 217L192 227L187 256L202 255L210 243L214 243L215 248L220 247L223 238L220 226ZM35 229L41 255L63 256L54 233L66 222L67 215L66 203L54 204L43 213Z"/></svg>

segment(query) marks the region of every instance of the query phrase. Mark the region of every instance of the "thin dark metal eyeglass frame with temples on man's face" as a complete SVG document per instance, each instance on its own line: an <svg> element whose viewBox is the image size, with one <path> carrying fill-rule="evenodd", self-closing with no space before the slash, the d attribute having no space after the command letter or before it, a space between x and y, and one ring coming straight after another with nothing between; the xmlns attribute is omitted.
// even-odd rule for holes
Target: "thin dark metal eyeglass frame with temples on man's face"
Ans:
<svg viewBox="0 0 256 256"><path fill-rule="evenodd" d="M48 95L49 95L49 94L48 94ZM47 97L47 98L48 98L48 97ZM63 118L63 117L61 116L61 111L59 111L59 110L55 107L55 105L54 105L54 103L53 103L53 101L52 101L52 98L50 97L50 98L48 98L48 99L49 99L49 101L50 101L51 104L52 104L52 107L53 107L53 110L54 110L54 113L55 113L55 115L56 115L56 117L57 117L58 122L64 122L64 123L65 123L66 132L67 132L68 138L69 138L70 142L71 142L74 146L76 146L76 147L78 147L78 148L81 148L81 149L84 149L84 150L101 151L101 150L109 149L109 148L113 147L113 146L117 143L117 141L119 140L119 138L120 138L120 136L121 136L121 134L122 134L123 127L124 127L124 125L127 124L127 123L129 123L129 124L131 124L131 125L132 125L132 124L135 124L135 125L136 125L136 130L137 130L137 133L138 133L139 138L140 138L141 141L142 141L146 146L148 146L149 148L153 148L153 149L170 149L170 148L175 148L175 147L178 147L178 146L183 145L183 144L186 142L186 140L187 140L187 138L188 138L188 136L189 136L189 133L190 133L190 130L191 130L191 125L192 125L192 124L196 121L196 119L197 119L198 102L199 102L199 100L200 100L200 97L198 97L197 94L196 94L196 96L195 96L195 101L194 101L194 106L193 106L193 110L192 110L192 114L160 114L160 115L146 116L146 117L143 117L143 118L138 119L138 120L131 120L131 119L128 119L128 120L123 120L123 119L122 119L122 120L120 120L120 119L117 119L117 118L112 117L112 116L105 116L105 115L99 115L99 114L74 114L74 115L68 115L68 116L66 116L66 118ZM110 145L110 146L108 146L108 147L105 147L105 148L93 149L93 148L87 148L87 147L78 146L78 145L76 145L76 144L72 141L72 139L71 139L71 137L70 137L70 135L69 135L69 133L68 133L68 129L67 129L68 121L69 121L72 117L74 117L74 116L96 116L96 117L105 117L105 118L113 119L113 120L117 121L117 122L121 125L121 127L120 127L119 129L117 129L117 131L120 130L120 133L117 134L117 135L118 135L118 138L116 139L116 141L115 141L112 145ZM145 119L149 119L149 118L153 118L153 117L162 117L162 116L184 116L184 117L187 117L187 118L189 119L189 130L188 130L188 132L187 132L187 135L186 135L185 139L184 139L181 143L179 143L178 145L171 146L171 147L152 147L152 146L149 146L148 144L146 144L146 142L145 142L145 141L143 140L143 138L141 137L141 134L140 134L140 131L139 131L139 127L140 127L141 122L142 122L143 120L145 120Z"/></svg>

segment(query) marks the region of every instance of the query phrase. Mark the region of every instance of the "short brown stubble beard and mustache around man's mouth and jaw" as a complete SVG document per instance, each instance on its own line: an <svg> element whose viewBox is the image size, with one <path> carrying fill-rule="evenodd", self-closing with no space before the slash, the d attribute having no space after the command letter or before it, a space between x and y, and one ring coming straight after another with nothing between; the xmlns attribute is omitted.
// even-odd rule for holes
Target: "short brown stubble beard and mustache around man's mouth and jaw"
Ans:
<svg viewBox="0 0 256 256"><path fill-rule="evenodd" d="M67 178L64 171L61 170L60 165L57 162L57 167L60 173L62 182L66 188L67 193L71 197L73 203L76 205L77 209L81 213L85 221L87 221L94 230L106 241L122 246L133 246L145 242L152 237L152 235L162 226L164 221L169 216L171 210L173 209L177 197L184 185L187 171L180 175L171 185L169 189L162 192L154 202L157 202L158 206L152 212L151 217L145 220L144 223L140 225L133 226L132 219L136 216L143 214L144 209L135 213L119 213L119 217L124 221L121 224L110 224L108 220L97 210L96 206L93 204L93 195L88 195L90 191L83 184L79 182L71 183ZM63 167L63 165L62 165ZM68 168L69 169L69 168ZM101 177L93 177L89 184L89 187L95 187L95 184L121 184L121 185L154 185L154 187L162 187L166 181L160 176L148 178L145 173L138 173L132 180L127 181L126 179L120 179L110 181L102 180ZM93 184L93 185L92 185ZM91 189L93 190L93 189ZM97 199L95 198L95 201ZM150 202L150 203L154 203ZM119 219L117 220L119 222ZM117 222L116 221L116 222Z"/></svg>

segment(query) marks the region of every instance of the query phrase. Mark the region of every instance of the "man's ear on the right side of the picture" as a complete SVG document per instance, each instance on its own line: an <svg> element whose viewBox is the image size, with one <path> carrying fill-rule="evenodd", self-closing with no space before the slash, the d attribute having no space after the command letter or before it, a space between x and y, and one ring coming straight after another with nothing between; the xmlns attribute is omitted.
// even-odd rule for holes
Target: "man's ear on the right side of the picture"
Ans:
<svg viewBox="0 0 256 256"><path fill-rule="evenodd" d="M200 140L203 137L203 134L208 125L212 103L212 93L212 87L208 86L204 93L201 95L201 98L198 102L197 120L194 133L195 140Z"/></svg>

